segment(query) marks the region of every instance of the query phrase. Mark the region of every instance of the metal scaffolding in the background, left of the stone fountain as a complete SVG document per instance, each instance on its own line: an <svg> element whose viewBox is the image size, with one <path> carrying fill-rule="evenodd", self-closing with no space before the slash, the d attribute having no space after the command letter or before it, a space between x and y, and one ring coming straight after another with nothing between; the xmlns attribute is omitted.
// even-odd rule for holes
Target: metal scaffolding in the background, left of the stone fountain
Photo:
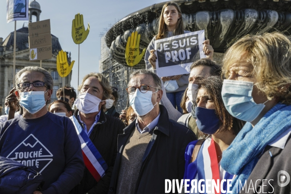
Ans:
<svg viewBox="0 0 291 194"><path fill-rule="evenodd" d="M128 93L126 91L131 67L117 63L111 53L110 49L106 46L104 33L100 34L101 37L101 57L99 61L99 72L105 76L110 85L118 89L118 101L116 102L116 112L121 113L121 110L127 107ZM134 69L132 69L132 72Z"/></svg>

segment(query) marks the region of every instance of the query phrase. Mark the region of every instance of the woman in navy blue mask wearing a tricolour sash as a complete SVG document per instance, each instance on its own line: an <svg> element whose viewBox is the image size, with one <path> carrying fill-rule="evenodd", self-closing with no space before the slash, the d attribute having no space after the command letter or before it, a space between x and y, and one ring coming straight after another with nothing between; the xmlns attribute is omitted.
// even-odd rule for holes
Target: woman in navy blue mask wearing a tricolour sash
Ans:
<svg viewBox="0 0 291 194"><path fill-rule="evenodd" d="M186 147L184 179L195 179L197 183L202 179L212 179L217 183L219 179L218 184L222 188L219 187L218 193L225 193L223 191L226 191L227 180L230 181L233 175L221 167L222 153L242 129L244 122L226 111L221 96L220 77L205 77L197 80L196 84L198 93L194 110L200 140L193 141ZM203 181L202 185L205 190L199 193L207 193L207 184ZM212 183L207 191L211 189ZM198 193L191 185L187 187L187 191Z"/></svg>

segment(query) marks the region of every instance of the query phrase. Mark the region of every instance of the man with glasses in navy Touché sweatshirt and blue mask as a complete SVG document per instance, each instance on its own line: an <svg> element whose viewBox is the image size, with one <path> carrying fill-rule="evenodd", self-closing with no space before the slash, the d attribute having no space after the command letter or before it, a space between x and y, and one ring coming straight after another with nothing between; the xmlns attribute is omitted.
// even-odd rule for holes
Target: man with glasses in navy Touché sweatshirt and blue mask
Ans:
<svg viewBox="0 0 291 194"><path fill-rule="evenodd" d="M16 96L23 115L0 124L0 156L29 166L44 178L42 190L33 194L68 194L83 176L81 144L72 121L47 111L52 87L47 70L21 69L16 74Z"/></svg>

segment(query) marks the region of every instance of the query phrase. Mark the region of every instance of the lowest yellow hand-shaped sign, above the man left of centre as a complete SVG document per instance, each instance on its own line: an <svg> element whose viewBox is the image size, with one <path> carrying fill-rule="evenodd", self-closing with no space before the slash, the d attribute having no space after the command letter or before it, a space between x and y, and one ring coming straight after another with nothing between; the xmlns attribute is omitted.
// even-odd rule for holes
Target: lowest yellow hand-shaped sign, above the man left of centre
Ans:
<svg viewBox="0 0 291 194"><path fill-rule="evenodd" d="M75 61L72 61L71 65L69 66L66 52L64 52L63 50L59 51L59 54L57 55L57 70L61 77L66 77L70 74L74 63Z"/></svg>

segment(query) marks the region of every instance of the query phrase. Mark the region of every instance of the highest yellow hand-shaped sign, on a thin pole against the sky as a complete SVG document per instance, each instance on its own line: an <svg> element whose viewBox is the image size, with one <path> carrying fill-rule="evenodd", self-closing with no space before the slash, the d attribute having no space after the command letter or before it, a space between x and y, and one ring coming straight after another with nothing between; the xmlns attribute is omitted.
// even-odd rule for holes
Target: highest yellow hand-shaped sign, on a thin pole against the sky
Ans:
<svg viewBox="0 0 291 194"><path fill-rule="evenodd" d="M88 23L88 28L85 31L85 26L83 24L83 15L77 14L72 23L72 38L75 44L81 44L87 38L90 31L90 25Z"/></svg>

